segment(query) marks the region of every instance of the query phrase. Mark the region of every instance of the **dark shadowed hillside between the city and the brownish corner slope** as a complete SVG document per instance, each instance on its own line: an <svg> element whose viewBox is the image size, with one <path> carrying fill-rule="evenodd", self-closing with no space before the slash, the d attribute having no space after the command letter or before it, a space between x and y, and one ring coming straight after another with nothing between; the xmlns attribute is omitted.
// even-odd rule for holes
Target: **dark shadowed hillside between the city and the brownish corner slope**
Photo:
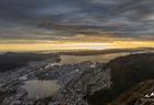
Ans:
<svg viewBox="0 0 154 105"><path fill-rule="evenodd" d="M101 90L88 96L88 102L92 105L106 105L133 85L146 80L153 80L154 53L117 57L107 63L103 70L111 70L112 86L110 90Z"/></svg>

